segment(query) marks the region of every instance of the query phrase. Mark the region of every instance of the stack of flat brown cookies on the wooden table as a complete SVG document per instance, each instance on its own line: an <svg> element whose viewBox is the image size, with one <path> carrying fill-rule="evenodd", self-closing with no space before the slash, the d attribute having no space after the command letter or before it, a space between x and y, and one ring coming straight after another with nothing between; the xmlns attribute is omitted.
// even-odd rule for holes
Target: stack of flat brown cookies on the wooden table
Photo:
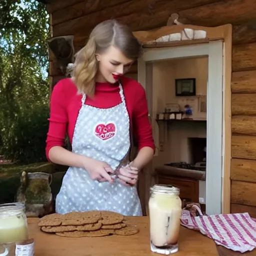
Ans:
<svg viewBox="0 0 256 256"><path fill-rule="evenodd" d="M137 227L125 223L123 215L97 210L49 214L39 219L38 226L43 232L67 237L131 235L138 232Z"/></svg>

